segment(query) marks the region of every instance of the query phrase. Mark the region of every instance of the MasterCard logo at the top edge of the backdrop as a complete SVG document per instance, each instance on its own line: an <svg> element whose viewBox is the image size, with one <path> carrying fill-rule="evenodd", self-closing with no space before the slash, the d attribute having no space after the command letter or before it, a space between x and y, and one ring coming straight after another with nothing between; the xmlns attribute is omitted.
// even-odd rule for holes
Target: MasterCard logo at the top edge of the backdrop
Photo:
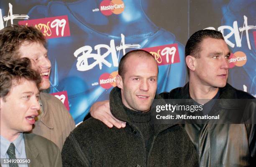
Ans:
<svg viewBox="0 0 256 167"><path fill-rule="evenodd" d="M122 0L103 0L100 3L100 12L103 15L119 15L123 12L125 6Z"/></svg>

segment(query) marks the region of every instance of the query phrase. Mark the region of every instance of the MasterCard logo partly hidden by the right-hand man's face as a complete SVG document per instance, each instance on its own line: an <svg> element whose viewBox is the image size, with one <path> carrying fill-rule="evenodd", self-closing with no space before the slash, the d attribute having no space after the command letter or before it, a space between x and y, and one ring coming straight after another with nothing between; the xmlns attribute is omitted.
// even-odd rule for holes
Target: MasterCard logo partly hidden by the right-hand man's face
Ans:
<svg viewBox="0 0 256 167"><path fill-rule="evenodd" d="M246 54L243 53L242 51L237 51L235 53L231 53L229 59L229 68L233 68L234 66L241 67L246 64L247 62L247 57Z"/></svg>

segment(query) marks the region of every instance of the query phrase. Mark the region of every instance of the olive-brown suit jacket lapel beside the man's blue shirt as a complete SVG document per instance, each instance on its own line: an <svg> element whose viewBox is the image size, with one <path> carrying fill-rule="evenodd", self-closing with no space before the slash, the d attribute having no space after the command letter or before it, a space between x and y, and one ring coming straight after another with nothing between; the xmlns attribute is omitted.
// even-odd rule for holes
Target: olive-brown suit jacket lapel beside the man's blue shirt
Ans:
<svg viewBox="0 0 256 167"><path fill-rule="evenodd" d="M23 136L25 141L26 156L27 156L27 159L30 159L30 163L28 164L28 167L43 167L43 164L41 164L41 162L38 161L37 159L39 152L35 143L26 134L23 134Z"/></svg>

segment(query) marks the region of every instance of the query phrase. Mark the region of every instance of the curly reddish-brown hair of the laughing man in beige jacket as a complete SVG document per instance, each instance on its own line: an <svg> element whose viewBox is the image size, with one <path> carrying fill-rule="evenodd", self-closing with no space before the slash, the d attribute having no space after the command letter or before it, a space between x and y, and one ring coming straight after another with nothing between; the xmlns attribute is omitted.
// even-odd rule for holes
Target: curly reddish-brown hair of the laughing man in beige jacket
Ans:
<svg viewBox="0 0 256 167"><path fill-rule="evenodd" d="M24 41L46 44L43 33L33 26L12 25L0 30L0 58L19 58L18 50Z"/></svg>

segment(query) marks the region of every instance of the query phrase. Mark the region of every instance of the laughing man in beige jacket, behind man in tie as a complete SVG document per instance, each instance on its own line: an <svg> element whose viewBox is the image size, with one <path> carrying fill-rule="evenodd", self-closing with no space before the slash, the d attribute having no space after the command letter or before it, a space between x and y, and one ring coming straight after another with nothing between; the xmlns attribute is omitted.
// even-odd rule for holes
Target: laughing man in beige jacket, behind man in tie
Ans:
<svg viewBox="0 0 256 167"><path fill-rule="evenodd" d="M39 71L41 83L40 113L32 133L54 142L61 150L69 133L75 128L74 120L61 101L42 91L50 87L51 62L45 48L44 35L34 27L12 25L0 30L0 58L29 58L32 68Z"/></svg>

